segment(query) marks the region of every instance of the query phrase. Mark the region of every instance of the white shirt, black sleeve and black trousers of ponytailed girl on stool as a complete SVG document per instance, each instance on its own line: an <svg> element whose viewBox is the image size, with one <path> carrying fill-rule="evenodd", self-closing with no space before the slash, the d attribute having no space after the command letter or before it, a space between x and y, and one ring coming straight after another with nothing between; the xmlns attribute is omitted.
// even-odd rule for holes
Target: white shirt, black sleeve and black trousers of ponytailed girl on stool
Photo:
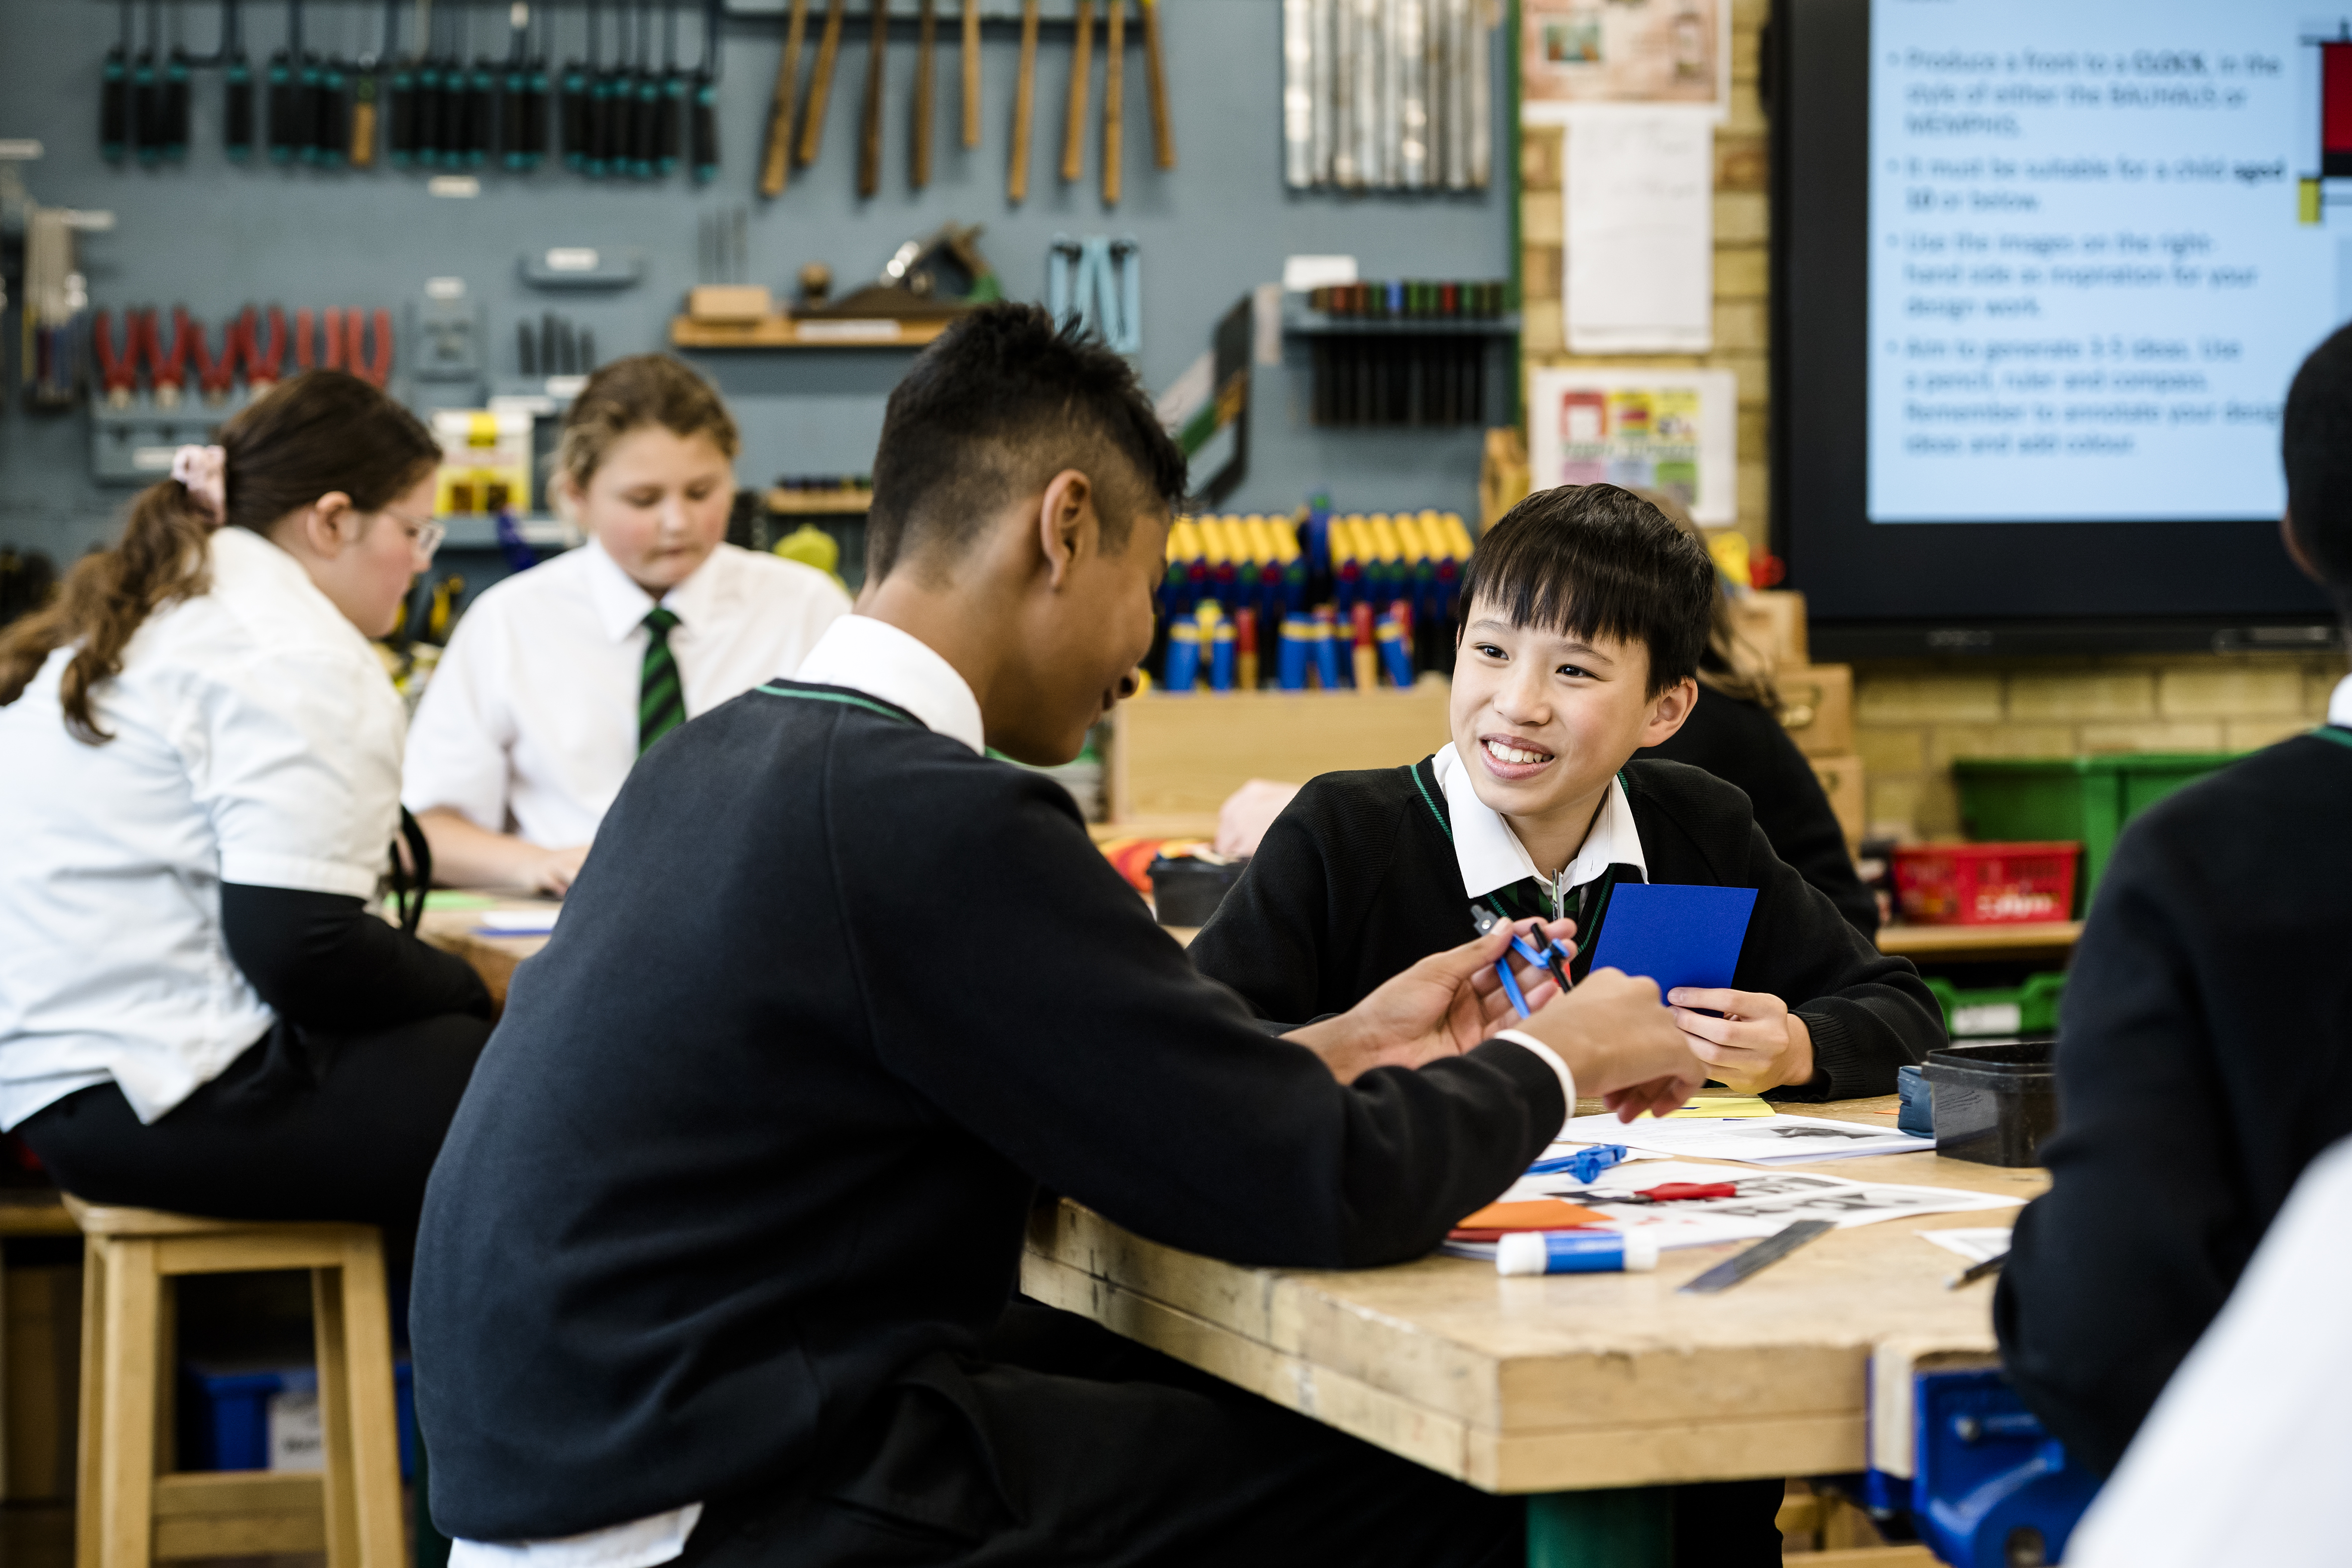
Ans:
<svg viewBox="0 0 2352 1568"><path fill-rule="evenodd" d="M0 710L0 1128L92 1201L367 1220L400 1251L489 994L367 905L400 830L374 649L245 529L66 729Z"/></svg>

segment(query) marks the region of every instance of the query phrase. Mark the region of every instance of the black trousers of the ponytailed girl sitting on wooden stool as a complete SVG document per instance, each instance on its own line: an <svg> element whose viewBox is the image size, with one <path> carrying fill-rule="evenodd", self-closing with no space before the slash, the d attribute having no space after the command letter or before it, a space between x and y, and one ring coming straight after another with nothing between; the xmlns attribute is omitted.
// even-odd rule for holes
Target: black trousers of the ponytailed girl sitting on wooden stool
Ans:
<svg viewBox="0 0 2352 1568"><path fill-rule="evenodd" d="M92 1204L381 1225L386 1258L405 1269L426 1175L487 1039L489 1023L468 1013L374 1034L280 1023L151 1126L99 1084L16 1131Z"/></svg>

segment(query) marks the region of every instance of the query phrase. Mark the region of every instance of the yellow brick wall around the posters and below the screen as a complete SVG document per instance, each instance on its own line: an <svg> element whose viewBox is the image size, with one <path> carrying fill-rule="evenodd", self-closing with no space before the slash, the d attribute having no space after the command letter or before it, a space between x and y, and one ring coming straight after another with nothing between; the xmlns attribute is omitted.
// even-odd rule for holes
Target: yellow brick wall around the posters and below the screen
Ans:
<svg viewBox="0 0 2352 1568"><path fill-rule="evenodd" d="M1731 118L1715 129L1715 350L1571 355L1562 336L1562 132L1531 127L1519 148L1526 367L1717 367L1740 383L1740 531L1766 538L1771 505L1769 259L1771 197L1757 40L1769 0L1731 5ZM1987 665L1858 665L1856 752L1872 832L1957 837L1955 757L2074 757L2138 750L2253 750L2317 724L2340 658L2178 656Z"/></svg>

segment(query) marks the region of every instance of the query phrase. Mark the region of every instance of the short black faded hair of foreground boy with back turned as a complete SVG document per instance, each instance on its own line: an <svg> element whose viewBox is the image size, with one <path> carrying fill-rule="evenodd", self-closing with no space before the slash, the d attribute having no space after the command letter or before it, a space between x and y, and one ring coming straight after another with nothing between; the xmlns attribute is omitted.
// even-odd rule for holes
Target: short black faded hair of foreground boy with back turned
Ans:
<svg viewBox="0 0 2352 1568"><path fill-rule="evenodd" d="M962 552L1014 498L1063 468L1096 487L1103 548L1124 550L1141 505L1174 508L1185 461L1136 371L1037 306L983 306L915 360L889 395L866 512L866 576L901 557Z"/></svg>

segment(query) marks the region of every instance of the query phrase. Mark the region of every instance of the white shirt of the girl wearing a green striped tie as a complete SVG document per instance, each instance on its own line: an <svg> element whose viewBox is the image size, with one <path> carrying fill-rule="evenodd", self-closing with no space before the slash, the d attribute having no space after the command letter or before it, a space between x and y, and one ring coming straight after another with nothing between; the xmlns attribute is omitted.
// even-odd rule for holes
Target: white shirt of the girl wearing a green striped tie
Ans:
<svg viewBox="0 0 2352 1568"><path fill-rule="evenodd" d="M687 717L790 675L849 595L814 567L720 545L659 599ZM586 844L637 762L644 616L604 545L492 583L466 609L416 719L402 799L546 849Z"/></svg>

